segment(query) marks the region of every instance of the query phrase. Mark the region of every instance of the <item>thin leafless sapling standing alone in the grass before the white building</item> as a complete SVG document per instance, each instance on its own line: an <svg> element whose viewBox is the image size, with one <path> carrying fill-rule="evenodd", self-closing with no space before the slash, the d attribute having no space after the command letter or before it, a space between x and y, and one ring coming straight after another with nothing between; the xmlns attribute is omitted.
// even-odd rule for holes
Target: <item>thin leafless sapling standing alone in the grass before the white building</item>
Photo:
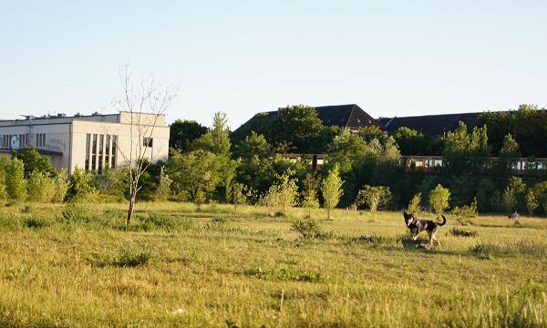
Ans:
<svg viewBox="0 0 547 328"><path fill-rule="evenodd" d="M161 87L153 75L134 83L129 65L125 66L125 70L120 70L119 78L124 96L115 101L115 106L120 115L122 112L128 114L130 126L129 140L116 142L118 156L129 170L129 209L126 218L126 227L129 227L141 188L140 177L159 152L154 152L151 147L154 130L166 115L173 98L177 96L178 87Z"/></svg>

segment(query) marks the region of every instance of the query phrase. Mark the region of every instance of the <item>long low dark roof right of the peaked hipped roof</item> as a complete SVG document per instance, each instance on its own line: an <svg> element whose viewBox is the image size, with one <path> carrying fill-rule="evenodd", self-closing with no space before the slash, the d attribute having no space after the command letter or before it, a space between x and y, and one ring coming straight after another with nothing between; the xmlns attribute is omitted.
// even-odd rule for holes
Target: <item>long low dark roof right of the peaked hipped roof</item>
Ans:
<svg viewBox="0 0 547 328"><path fill-rule="evenodd" d="M475 120L482 113L460 113L426 115L405 118L382 118L380 123L384 129L393 133L397 128L407 127L415 129L428 136L442 136L444 133L458 128L459 121L465 123L468 129L475 126Z"/></svg>

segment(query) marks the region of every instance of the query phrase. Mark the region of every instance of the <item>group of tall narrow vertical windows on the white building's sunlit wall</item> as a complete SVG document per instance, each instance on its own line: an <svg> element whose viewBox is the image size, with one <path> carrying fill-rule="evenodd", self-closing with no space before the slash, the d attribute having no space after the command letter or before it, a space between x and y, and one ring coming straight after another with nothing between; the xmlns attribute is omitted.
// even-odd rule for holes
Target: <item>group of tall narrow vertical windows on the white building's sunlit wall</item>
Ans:
<svg viewBox="0 0 547 328"><path fill-rule="evenodd" d="M103 134L86 135L86 170L102 173L103 169L116 168L118 136Z"/></svg>

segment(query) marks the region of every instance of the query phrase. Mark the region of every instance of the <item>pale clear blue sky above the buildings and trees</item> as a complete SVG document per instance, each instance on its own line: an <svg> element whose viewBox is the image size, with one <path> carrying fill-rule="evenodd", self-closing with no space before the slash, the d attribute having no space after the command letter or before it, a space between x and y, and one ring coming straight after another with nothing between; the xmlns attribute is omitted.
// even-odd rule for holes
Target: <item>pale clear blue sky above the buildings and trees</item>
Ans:
<svg viewBox="0 0 547 328"><path fill-rule="evenodd" d="M373 117L547 107L547 1L0 0L0 118L112 111L119 67L169 121L292 104Z"/></svg>

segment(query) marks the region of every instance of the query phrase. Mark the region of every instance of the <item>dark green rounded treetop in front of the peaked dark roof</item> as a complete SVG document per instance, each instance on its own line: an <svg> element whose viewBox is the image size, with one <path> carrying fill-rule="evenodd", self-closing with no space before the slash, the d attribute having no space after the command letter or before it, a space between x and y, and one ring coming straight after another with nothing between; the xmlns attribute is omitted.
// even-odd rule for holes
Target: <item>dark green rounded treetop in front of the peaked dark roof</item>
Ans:
<svg viewBox="0 0 547 328"><path fill-rule="evenodd" d="M299 153L314 153L324 128L315 108L290 106L279 111L270 138L276 145L290 144Z"/></svg>

